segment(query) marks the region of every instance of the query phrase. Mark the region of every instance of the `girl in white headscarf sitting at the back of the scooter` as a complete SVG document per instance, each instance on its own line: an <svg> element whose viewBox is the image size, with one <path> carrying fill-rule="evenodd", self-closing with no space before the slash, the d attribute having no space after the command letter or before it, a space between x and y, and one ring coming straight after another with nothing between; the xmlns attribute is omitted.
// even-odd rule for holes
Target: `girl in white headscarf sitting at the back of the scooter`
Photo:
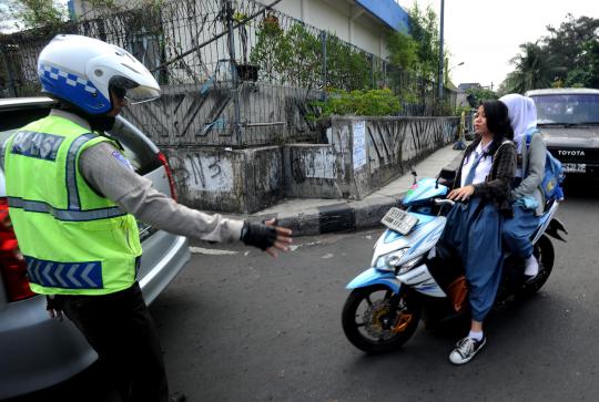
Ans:
<svg viewBox="0 0 599 402"><path fill-rule="evenodd" d="M514 143L518 151L518 165L511 205L514 217L506 219L501 234L506 246L525 260L525 276L532 279L539 272L539 264L532 255L530 235L539 224L544 212L544 198L540 184L545 172L546 146L541 133L537 130L537 107L527 96L509 94L500 97L509 110L509 120L514 128ZM532 133L530 144L526 137Z"/></svg>

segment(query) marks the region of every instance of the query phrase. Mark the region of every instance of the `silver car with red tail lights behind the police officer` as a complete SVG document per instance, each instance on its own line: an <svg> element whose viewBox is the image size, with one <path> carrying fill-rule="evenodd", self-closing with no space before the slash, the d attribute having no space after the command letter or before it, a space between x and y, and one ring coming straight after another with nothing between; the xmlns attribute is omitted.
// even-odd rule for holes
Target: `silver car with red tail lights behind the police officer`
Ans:
<svg viewBox="0 0 599 402"><path fill-rule="evenodd" d="M0 99L0 144L19 127L45 116L48 97ZM118 117L111 134L135 171L175 197L166 158L135 126ZM187 239L139 223L143 256L138 279L151 303L190 259ZM79 373L95 352L69 321L49 318L45 298L29 289L26 266L8 215L0 166L0 400L37 391Z"/></svg>

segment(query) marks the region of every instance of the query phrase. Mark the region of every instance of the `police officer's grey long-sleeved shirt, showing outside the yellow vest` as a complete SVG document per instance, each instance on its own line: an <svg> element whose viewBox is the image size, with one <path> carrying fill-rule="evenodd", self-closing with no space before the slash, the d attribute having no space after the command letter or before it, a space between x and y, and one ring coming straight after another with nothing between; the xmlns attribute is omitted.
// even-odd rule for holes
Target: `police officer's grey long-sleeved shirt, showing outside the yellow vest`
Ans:
<svg viewBox="0 0 599 402"><path fill-rule="evenodd" d="M89 128L85 121L71 113L52 110L53 115L69 118ZM207 215L177 204L152 188L152 182L138 175L113 154L108 143L81 153L79 169L88 184L116 203L139 220L159 229L207 241L234 241L241 237L242 220Z"/></svg>

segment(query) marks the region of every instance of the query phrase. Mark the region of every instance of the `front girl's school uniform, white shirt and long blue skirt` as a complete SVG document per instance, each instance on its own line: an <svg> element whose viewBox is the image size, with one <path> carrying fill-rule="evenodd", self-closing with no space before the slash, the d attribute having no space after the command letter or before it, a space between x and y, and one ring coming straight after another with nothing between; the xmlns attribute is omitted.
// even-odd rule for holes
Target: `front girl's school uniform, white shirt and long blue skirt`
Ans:
<svg viewBox="0 0 599 402"><path fill-rule="evenodd" d="M496 150L493 152L493 150ZM510 183L516 171L516 147L510 141L483 147L480 137L464 154L454 188L471 184L467 203L457 203L447 215L441 241L457 252L469 285L471 317L484 321L501 278L501 224L510 213Z"/></svg>

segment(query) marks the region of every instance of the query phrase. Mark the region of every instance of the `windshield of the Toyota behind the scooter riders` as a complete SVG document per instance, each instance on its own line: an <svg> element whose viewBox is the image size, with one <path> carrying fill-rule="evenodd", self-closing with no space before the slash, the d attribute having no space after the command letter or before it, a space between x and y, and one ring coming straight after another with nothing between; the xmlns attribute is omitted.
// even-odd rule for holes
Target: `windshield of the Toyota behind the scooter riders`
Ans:
<svg viewBox="0 0 599 402"><path fill-rule="evenodd" d="M530 96L537 105L539 124L599 123L599 94Z"/></svg>

